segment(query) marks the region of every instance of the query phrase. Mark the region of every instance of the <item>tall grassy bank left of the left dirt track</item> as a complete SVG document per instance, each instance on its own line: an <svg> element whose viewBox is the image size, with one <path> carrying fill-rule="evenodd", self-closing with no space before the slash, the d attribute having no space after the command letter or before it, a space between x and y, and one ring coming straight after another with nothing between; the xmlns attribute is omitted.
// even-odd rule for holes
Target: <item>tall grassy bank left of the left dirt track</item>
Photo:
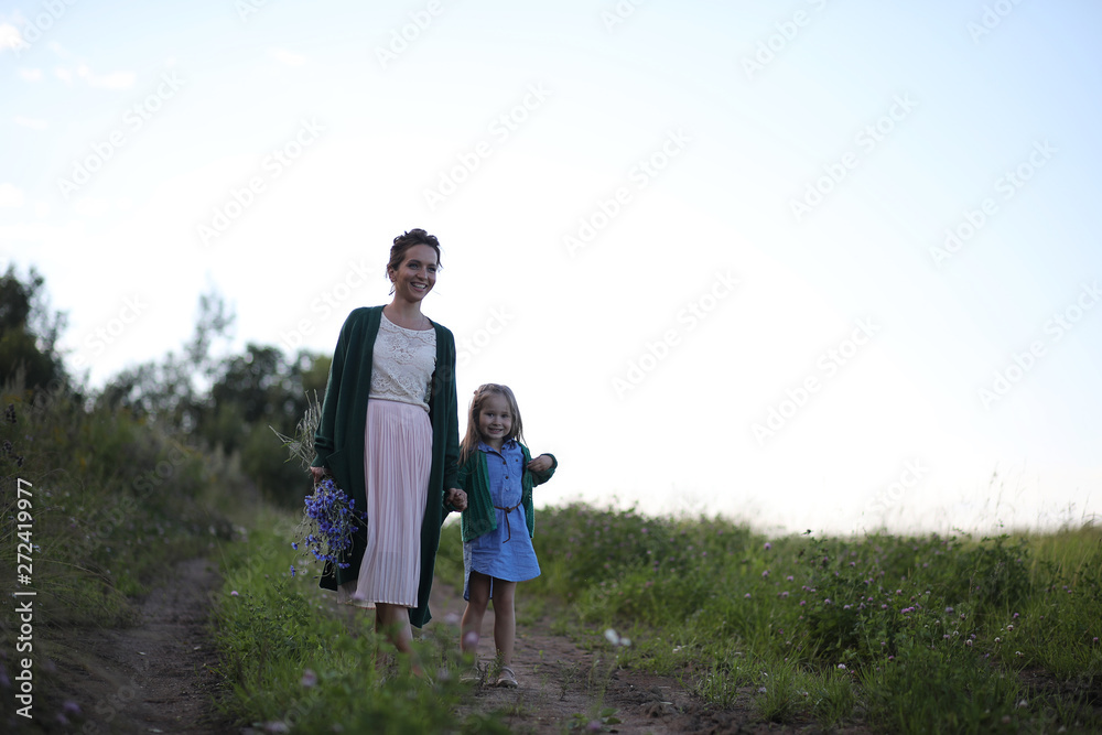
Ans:
<svg viewBox="0 0 1102 735"><path fill-rule="evenodd" d="M175 562L229 538L222 509L234 475L152 424L87 411L65 391L8 387L0 408L0 568L10 572L0 579L0 712L8 729L64 727L78 716L64 707L56 642L134 621L137 601ZM32 612L17 614L28 603ZM24 658L34 722L15 714Z"/></svg>

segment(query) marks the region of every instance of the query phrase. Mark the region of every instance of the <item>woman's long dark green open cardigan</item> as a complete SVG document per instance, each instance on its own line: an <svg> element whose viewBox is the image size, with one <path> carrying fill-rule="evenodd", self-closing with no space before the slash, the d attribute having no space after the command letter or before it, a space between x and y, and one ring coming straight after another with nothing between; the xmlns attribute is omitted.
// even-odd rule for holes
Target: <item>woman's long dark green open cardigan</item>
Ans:
<svg viewBox="0 0 1102 735"><path fill-rule="evenodd" d="M354 310L344 326L333 353L329 378L322 401L322 415L314 433L313 466L326 467L337 486L356 501L360 511L367 507L364 477L364 433L367 429L367 398L371 389L371 353L382 321L382 306ZM436 331L436 368L432 374L429 419L432 423L432 469L429 474L429 498L421 526L421 579L418 606L410 608L410 623L423 626L429 614L429 593L440 545L440 526L451 511L443 502L444 489L458 487L456 473L460 457L460 422L455 396L455 338L452 333L432 323ZM367 545L366 528L353 538L353 549L344 561L349 566L337 569L326 564L321 586L336 590L337 585L359 576L359 565Z"/></svg>

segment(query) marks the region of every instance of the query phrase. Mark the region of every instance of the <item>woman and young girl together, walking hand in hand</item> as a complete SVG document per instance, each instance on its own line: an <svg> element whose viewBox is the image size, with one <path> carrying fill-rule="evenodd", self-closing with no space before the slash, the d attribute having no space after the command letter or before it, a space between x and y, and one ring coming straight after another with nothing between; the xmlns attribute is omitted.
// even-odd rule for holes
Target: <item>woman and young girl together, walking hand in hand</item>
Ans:
<svg viewBox="0 0 1102 735"><path fill-rule="evenodd" d="M395 238L387 275L393 299L354 310L337 338L314 436L314 482L332 475L366 509L344 559L326 564L321 586L337 601L375 610L375 629L413 653L410 625L429 621L429 593L449 512L461 511L464 599L461 646L476 652L487 604L500 687L512 671L518 582L539 576L532 548L532 487L557 462L523 445L512 391L475 390L458 441L455 339L421 313L436 282L440 242L423 229ZM411 667L420 673L415 657ZM476 678L476 671L464 679Z"/></svg>

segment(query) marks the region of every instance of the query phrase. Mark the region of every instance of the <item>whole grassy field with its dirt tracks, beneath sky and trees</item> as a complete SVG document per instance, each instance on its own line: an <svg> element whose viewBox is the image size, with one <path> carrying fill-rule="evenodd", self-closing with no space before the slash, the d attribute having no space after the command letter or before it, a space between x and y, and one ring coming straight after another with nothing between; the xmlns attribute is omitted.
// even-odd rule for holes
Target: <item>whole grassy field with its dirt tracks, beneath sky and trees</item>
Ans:
<svg viewBox="0 0 1102 735"><path fill-rule="evenodd" d="M161 732L196 733L1102 732L1092 525L766 538L719 518L544 509L543 574L518 593L523 688L508 692L458 681L472 661L456 646L454 525L418 641L426 681L316 588L289 544L295 514L242 494L231 462L138 420L20 399L4 397L0 424L0 555L15 568L22 478L36 699L33 720L17 714L21 587L9 575L10 732L149 732L154 716ZM181 570L206 574L188 599L164 592L192 583ZM179 629L151 620L193 615ZM164 652L147 663L152 650ZM128 689L105 684L133 671L144 678Z"/></svg>

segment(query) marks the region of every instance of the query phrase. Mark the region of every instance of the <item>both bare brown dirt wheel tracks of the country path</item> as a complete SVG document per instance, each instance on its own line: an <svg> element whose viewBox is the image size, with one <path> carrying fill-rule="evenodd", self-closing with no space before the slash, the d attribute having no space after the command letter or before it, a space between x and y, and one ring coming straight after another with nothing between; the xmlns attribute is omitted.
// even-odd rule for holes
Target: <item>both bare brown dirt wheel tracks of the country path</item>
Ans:
<svg viewBox="0 0 1102 735"><path fill-rule="evenodd" d="M60 726L55 713L37 712L45 732L87 735L110 733L180 733L230 735L239 732L212 704L217 679L210 668L217 656L206 623L209 594L218 576L213 564L183 562L171 581L153 591L141 606L140 625L126 629L82 629L54 640L51 658L63 689L57 701L79 704L76 725ZM433 588L432 625L457 623L463 598L451 586ZM523 620L523 614L521 614ZM486 615L479 658L494 658L494 616ZM750 705L720 712L702 705L671 678L616 670L602 651L583 650L552 633L549 617L518 625L514 670L520 688L478 685L468 713L498 712L516 733L563 733L571 726L587 732L603 709L615 710L619 723L602 723L617 733L765 733L818 732L812 723L780 726L757 722ZM604 647L602 647L604 648ZM592 731L588 731L592 732Z"/></svg>

